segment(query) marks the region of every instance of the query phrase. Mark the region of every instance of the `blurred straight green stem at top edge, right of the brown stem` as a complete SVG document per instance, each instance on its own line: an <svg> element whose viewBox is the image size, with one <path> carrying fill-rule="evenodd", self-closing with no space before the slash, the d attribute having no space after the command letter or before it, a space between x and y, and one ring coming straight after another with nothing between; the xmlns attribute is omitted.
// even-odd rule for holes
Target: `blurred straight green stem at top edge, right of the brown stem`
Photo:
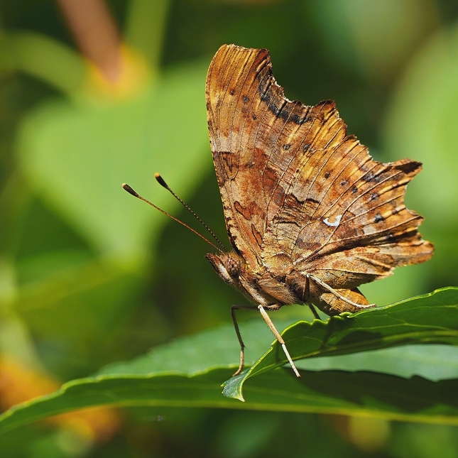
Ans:
<svg viewBox="0 0 458 458"><path fill-rule="evenodd" d="M131 0L126 43L141 51L154 74L158 73L169 0Z"/></svg>

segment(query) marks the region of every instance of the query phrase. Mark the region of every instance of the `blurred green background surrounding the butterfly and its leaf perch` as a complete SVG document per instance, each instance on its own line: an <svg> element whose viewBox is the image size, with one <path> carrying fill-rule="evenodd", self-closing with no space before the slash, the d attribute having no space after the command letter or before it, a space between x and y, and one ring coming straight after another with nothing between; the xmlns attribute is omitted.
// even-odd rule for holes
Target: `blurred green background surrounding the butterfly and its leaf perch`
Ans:
<svg viewBox="0 0 458 458"><path fill-rule="evenodd" d="M435 256L364 286L369 300L458 284L457 1L21 0L2 1L0 21L2 409L228 322L241 302L203 241L121 189L195 226L159 171L227 239L205 118L223 43L268 48L286 96L334 99L376 159L423 163L406 202ZM11 432L0 456L452 458L458 429L104 410Z"/></svg>

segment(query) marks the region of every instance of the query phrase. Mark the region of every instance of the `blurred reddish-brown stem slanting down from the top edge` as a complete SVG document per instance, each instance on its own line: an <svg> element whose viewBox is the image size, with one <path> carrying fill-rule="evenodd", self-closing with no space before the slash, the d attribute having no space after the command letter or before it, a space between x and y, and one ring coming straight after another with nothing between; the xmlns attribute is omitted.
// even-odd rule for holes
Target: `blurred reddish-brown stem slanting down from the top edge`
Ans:
<svg viewBox="0 0 458 458"><path fill-rule="evenodd" d="M110 82L121 77L121 39L104 0L58 0L81 52Z"/></svg>

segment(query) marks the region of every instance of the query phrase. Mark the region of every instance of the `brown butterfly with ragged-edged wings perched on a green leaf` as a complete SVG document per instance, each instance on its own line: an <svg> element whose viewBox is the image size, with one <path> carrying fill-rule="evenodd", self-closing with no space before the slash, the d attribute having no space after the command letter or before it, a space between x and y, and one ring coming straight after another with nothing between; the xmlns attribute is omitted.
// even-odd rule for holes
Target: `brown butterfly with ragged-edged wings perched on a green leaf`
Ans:
<svg viewBox="0 0 458 458"><path fill-rule="evenodd" d="M207 254L218 275L266 310L305 303L328 315L374 304L358 286L397 266L427 261L422 217L405 207L421 170L409 159L380 163L347 135L331 100L307 107L286 99L268 50L223 45L207 74L207 119L227 233L234 251Z"/></svg>

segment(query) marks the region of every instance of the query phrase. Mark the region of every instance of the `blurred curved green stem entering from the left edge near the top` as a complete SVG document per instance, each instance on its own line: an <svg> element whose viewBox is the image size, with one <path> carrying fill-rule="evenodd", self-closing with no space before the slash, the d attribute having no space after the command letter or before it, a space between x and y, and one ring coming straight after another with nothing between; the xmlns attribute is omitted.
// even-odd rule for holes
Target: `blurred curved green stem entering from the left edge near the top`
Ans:
<svg viewBox="0 0 458 458"><path fill-rule="evenodd" d="M75 51L31 32L2 36L0 70L22 70L68 94L80 89L85 77L84 62Z"/></svg>

